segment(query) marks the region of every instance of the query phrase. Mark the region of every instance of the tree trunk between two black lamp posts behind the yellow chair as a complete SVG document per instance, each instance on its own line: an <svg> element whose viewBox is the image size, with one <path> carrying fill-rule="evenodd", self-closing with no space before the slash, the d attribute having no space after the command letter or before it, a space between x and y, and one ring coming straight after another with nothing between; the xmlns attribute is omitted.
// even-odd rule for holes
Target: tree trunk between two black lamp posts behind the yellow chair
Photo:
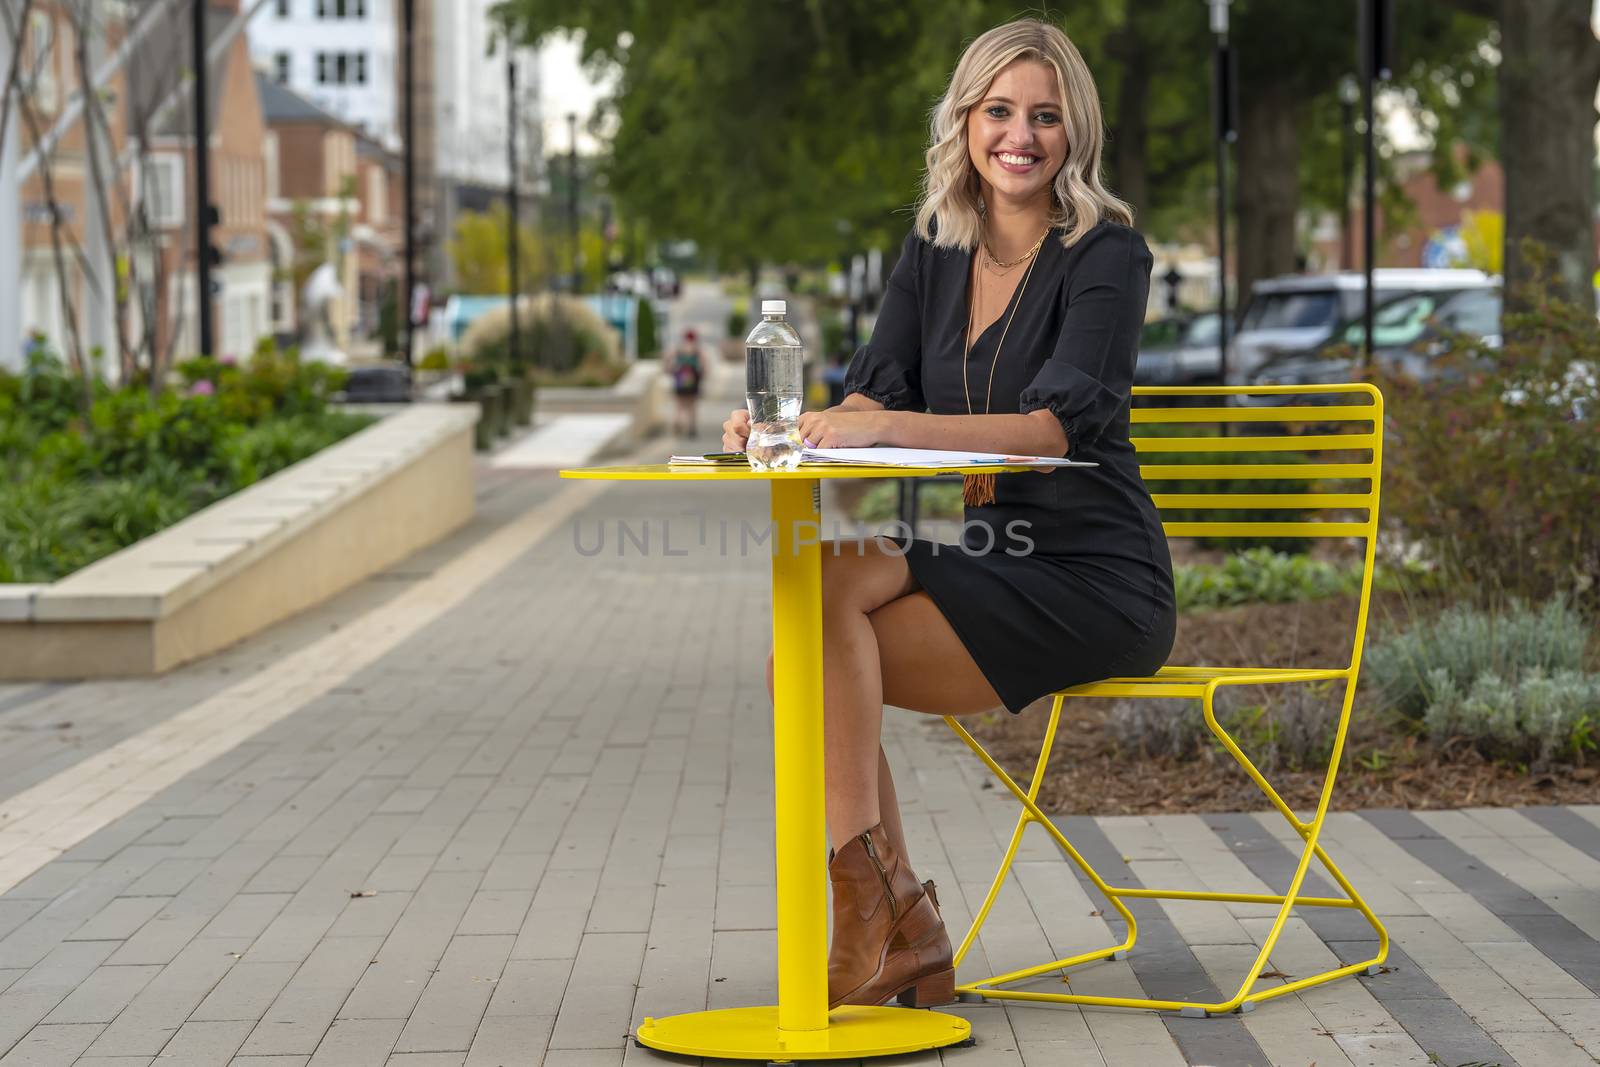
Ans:
<svg viewBox="0 0 1600 1067"><path fill-rule="evenodd" d="M1299 211L1299 133L1288 86L1242 86L1238 114L1238 296L1250 286L1294 270L1294 214Z"/></svg>

